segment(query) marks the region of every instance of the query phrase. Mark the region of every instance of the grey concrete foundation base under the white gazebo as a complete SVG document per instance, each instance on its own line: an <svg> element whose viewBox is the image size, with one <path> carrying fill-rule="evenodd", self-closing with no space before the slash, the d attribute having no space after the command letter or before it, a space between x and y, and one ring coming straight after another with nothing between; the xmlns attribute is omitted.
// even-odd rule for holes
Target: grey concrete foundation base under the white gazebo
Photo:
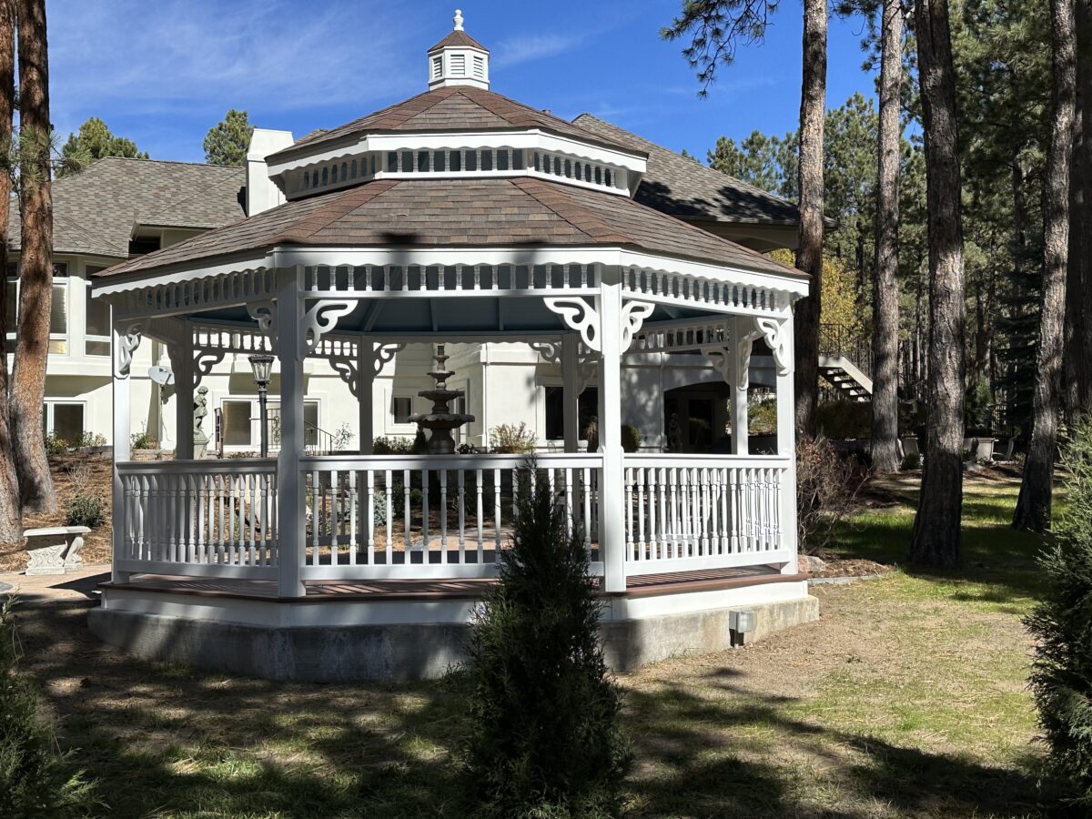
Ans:
<svg viewBox="0 0 1092 819"><path fill-rule="evenodd" d="M722 651L753 642L819 617L819 601L804 593L783 600L741 600L691 610L679 606L636 609L627 601L607 605L601 626L607 663L630 670L672 656ZM779 589L779 586L781 589ZM788 586L786 589L786 586ZM798 584L776 584L794 593ZM714 598L704 601L711 604ZM724 600L723 602L728 602ZM155 614L150 606L118 606L88 613L92 633L126 652L149 660L278 680L337 682L440 677L465 658L470 626L462 622L375 622L370 625L259 625L223 619ZM289 605L289 604L274 604ZM336 606L325 603L323 607ZM733 608L757 613L756 630L729 629ZM134 610L135 609L135 610ZM672 610L676 609L676 610ZM224 614L223 612L221 613ZM633 616L636 615L636 616ZM382 618L378 618L382 619ZM367 618L354 624L367 624Z"/></svg>

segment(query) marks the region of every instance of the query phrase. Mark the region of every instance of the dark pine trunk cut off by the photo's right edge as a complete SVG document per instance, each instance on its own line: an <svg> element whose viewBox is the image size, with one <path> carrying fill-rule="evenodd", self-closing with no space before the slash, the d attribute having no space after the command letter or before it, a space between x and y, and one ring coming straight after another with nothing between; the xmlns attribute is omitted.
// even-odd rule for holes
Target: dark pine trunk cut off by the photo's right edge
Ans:
<svg viewBox="0 0 1092 819"><path fill-rule="evenodd" d="M1080 275L1080 304L1078 312L1083 325L1075 346L1080 351L1078 378L1078 406L1081 413L1092 413L1092 0L1077 0L1077 82L1083 100L1080 107L1081 126L1075 128L1080 141L1073 145L1079 155L1075 163L1079 176L1071 185L1081 192L1080 222L1070 219L1081 237L1081 252L1077 258Z"/></svg>

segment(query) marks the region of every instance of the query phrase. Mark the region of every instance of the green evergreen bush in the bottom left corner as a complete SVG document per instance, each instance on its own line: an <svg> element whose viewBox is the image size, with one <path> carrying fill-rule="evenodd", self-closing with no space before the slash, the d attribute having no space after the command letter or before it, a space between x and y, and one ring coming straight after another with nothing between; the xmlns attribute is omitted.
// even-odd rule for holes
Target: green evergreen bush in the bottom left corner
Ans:
<svg viewBox="0 0 1092 819"><path fill-rule="evenodd" d="M91 786L64 771L54 736L38 715L38 696L16 670L19 638L11 621L12 598L0 606L0 815L67 816L87 807Z"/></svg>

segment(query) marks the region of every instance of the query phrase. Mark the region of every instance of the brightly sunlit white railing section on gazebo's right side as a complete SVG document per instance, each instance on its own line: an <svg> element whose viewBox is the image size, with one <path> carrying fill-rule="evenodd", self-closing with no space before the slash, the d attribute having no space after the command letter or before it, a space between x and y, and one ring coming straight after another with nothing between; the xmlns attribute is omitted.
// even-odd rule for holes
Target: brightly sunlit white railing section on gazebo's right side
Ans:
<svg viewBox="0 0 1092 819"><path fill-rule="evenodd" d="M626 455L626 573L791 560L784 458Z"/></svg>

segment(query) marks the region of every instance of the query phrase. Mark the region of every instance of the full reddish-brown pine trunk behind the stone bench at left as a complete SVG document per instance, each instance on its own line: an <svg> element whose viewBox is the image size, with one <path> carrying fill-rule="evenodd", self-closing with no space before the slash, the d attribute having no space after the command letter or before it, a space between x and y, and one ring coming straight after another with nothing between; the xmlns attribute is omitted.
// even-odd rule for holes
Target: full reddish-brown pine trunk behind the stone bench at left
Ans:
<svg viewBox="0 0 1092 819"><path fill-rule="evenodd" d="M49 313L52 306L54 202L49 182L49 60L45 0L16 0L20 197L23 221L19 321L11 381L11 425L23 509L57 508L41 436Z"/></svg>

